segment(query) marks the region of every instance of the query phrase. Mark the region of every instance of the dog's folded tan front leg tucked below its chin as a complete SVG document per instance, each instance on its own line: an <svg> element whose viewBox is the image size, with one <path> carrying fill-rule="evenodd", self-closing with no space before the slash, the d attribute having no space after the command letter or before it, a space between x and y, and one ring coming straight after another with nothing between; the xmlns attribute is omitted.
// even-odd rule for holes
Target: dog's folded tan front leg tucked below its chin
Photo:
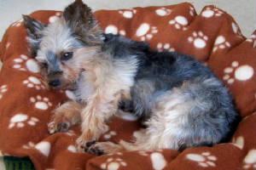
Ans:
<svg viewBox="0 0 256 170"><path fill-rule="evenodd" d="M66 132L69 127L79 123L82 108L83 105L74 101L67 101L56 108L48 123L49 133Z"/></svg>

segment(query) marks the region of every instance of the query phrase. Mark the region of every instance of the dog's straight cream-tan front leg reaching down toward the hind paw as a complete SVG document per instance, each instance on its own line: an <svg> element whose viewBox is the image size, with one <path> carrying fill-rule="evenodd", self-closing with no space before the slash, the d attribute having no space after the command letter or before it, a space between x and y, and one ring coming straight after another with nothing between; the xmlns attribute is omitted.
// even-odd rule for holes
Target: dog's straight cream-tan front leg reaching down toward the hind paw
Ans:
<svg viewBox="0 0 256 170"><path fill-rule="evenodd" d="M105 94L105 95L104 95ZM106 96L106 93L98 90L81 112L82 134L77 139L80 151L87 151L91 144L95 144L101 134L108 130L105 121L117 111L119 94Z"/></svg>

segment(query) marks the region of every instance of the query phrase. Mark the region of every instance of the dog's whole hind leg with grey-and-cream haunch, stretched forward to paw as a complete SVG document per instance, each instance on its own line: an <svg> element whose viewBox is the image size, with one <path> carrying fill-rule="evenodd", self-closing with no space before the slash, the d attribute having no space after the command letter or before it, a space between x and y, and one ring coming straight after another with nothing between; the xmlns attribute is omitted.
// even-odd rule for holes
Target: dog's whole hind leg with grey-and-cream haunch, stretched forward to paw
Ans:
<svg viewBox="0 0 256 170"><path fill-rule="evenodd" d="M190 146L217 144L230 131L235 111L219 82L184 82L156 99L147 128L135 143L97 143L94 149L109 153L122 150L183 150ZM229 115L227 115L229 114Z"/></svg>

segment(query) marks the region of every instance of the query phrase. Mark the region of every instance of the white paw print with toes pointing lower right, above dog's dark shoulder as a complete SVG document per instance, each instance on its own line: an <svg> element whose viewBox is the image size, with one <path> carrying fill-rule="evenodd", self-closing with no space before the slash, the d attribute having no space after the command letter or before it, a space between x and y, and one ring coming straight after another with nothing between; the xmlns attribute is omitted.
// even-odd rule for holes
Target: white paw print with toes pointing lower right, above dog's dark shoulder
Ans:
<svg viewBox="0 0 256 170"><path fill-rule="evenodd" d="M136 36L140 37L141 41L152 39L153 35L158 32L156 26L150 26L147 23L143 23L137 28Z"/></svg>

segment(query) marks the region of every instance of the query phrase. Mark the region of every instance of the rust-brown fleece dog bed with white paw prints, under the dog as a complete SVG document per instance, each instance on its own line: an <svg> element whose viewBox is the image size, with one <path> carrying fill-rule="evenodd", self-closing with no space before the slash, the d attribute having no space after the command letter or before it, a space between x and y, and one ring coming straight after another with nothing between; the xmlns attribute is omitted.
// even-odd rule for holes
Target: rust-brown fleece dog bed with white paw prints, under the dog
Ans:
<svg viewBox="0 0 256 170"><path fill-rule="evenodd" d="M61 17L59 11L36 11L44 23ZM255 169L256 168L256 31L249 38L233 18L214 6L196 14L190 3L147 8L100 10L96 20L106 33L150 43L151 48L194 55L212 68L230 89L240 112L229 143L177 150L138 150L105 156L79 153L79 126L49 135L47 122L57 105L73 99L72 91L48 91L39 67L28 56L22 20L9 26L0 44L0 155L29 156L41 169ZM140 123L119 111L108 122L101 141L131 141Z"/></svg>

